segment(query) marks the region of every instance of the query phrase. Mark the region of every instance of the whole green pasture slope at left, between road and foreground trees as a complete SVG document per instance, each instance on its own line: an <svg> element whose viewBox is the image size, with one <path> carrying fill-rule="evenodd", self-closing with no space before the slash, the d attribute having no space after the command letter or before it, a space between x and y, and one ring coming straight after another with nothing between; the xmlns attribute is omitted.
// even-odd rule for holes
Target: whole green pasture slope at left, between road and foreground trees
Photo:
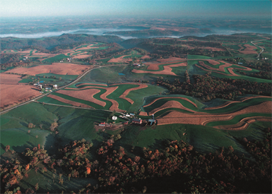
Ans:
<svg viewBox="0 0 272 194"><path fill-rule="evenodd" d="M48 152L53 153L54 148L51 145L56 141L66 145L71 140L82 138L93 141L94 145L98 146L107 135L95 131L94 125L96 122L105 122L109 115L110 111L73 109L35 102L23 105L0 115L0 154L5 152L6 145L10 145L11 150L23 152L26 147L35 147L37 144L45 146ZM49 131L54 119L59 123L57 136L50 135ZM35 128L28 128L28 123L35 124Z"/></svg>

